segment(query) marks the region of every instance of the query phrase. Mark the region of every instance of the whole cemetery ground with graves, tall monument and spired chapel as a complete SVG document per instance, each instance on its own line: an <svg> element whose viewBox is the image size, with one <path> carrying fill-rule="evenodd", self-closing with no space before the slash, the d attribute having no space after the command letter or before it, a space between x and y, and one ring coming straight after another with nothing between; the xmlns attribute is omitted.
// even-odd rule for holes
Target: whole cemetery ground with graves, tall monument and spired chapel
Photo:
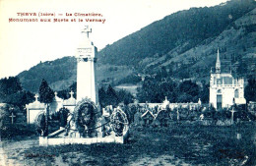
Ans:
<svg viewBox="0 0 256 166"><path fill-rule="evenodd" d="M0 152L7 165L255 165L255 103L243 80L221 74L218 50L210 101L100 104L92 29L77 49L77 91L64 99L43 80L22 111L1 104ZM231 91L226 95L226 91ZM76 93L76 95L75 95ZM45 94L45 95L43 95ZM229 97L228 97L229 96ZM39 98L39 99L38 99ZM51 98L51 100L49 100ZM195 101L195 99L194 99ZM8 111L5 111L8 110ZM7 115L7 112L9 113ZM10 140L8 140L10 139ZM22 157L21 157L22 156Z"/></svg>

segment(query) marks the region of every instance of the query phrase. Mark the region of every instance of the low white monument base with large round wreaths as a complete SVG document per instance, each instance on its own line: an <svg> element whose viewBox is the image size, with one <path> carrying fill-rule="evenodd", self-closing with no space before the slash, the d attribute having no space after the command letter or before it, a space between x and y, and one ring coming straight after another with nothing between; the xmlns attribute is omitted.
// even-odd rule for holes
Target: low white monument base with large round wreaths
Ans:
<svg viewBox="0 0 256 166"><path fill-rule="evenodd" d="M116 108L110 117L98 118L96 110L95 103L84 98L67 118L66 128L60 128L47 137L40 137L39 145L124 143L129 131L126 114Z"/></svg>

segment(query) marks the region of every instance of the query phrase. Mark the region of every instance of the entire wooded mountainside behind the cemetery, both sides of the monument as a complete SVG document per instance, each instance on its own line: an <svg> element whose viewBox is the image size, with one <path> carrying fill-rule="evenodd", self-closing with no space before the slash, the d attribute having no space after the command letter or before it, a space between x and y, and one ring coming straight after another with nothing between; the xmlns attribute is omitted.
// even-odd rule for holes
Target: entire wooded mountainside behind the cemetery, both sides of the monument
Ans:
<svg viewBox="0 0 256 166"><path fill-rule="evenodd" d="M229 72L232 66L237 76L256 75L255 8L254 0L232 0L166 16L102 49L98 83L118 83L138 73L156 74L161 68L168 69L173 78L206 79L218 47L223 71ZM64 57L40 63L18 77L32 92L37 92L42 79L60 90L76 82L76 70L75 57Z"/></svg>

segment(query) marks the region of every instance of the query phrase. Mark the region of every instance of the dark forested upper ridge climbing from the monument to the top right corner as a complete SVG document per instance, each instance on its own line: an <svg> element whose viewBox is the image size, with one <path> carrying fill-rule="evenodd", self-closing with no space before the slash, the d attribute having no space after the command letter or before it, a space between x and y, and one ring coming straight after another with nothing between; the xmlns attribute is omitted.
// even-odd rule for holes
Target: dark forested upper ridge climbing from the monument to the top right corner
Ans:
<svg viewBox="0 0 256 166"><path fill-rule="evenodd" d="M146 57L166 54L180 45L184 46L178 53L183 53L219 35L230 23L255 7L253 0L233 0L225 5L177 12L106 46L99 52L99 60L133 65Z"/></svg>

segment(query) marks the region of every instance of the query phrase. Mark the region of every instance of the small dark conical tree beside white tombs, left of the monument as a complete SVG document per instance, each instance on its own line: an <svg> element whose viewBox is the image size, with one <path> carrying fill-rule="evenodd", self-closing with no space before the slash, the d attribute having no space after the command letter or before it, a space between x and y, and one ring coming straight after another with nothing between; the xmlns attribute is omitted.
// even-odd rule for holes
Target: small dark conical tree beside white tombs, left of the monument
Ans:
<svg viewBox="0 0 256 166"><path fill-rule="evenodd" d="M53 90L49 87L48 83L43 79L39 87L39 101L48 104L52 102L53 97Z"/></svg>

